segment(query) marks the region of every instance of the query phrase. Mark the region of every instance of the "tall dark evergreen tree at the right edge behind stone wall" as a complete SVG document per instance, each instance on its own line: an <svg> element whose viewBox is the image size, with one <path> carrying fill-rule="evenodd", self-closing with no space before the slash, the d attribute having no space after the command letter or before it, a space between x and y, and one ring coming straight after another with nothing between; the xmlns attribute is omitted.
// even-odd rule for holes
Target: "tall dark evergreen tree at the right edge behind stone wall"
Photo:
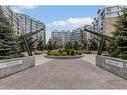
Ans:
<svg viewBox="0 0 127 95"><path fill-rule="evenodd" d="M113 32L113 41L109 45L109 53L114 57L127 59L127 8L122 10L117 24L115 24L115 32Z"/></svg>

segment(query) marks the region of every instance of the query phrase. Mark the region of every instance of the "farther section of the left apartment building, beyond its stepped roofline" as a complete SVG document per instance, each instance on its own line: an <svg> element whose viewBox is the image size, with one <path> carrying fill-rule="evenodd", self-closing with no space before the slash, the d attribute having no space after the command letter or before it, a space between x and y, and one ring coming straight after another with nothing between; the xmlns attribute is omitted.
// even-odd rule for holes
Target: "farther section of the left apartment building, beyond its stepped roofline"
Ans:
<svg viewBox="0 0 127 95"><path fill-rule="evenodd" d="M39 30L41 28L44 28L44 30L40 31L36 35L33 36L34 39L39 39L42 37L44 44L46 43L45 40L45 25L40 22L39 20L36 20L35 18L32 18L28 15L25 14L19 14L17 13L17 16L21 18L23 27L24 27L24 34L29 33L29 32L34 32L36 30Z"/></svg>

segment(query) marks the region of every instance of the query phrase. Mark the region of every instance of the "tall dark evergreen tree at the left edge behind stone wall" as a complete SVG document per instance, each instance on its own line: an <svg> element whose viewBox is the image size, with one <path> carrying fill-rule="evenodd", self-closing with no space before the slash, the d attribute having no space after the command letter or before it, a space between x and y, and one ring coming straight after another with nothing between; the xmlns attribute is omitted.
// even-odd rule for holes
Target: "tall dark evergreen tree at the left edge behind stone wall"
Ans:
<svg viewBox="0 0 127 95"><path fill-rule="evenodd" d="M17 38L13 25L10 24L9 19L4 15L2 6L0 6L0 57L12 58L19 57L19 47L16 42Z"/></svg>

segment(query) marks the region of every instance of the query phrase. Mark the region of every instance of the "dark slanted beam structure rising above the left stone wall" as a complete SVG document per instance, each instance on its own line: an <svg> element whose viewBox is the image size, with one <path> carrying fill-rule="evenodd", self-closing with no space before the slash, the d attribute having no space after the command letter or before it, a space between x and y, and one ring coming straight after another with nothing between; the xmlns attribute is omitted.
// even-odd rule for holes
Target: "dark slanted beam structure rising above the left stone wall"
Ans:
<svg viewBox="0 0 127 95"><path fill-rule="evenodd" d="M23 45L23 44L25 45L25 48L26 48L26 50L27 50L29 56L32 56L31 44L33 44L34 42L36 42L37 39L35 39L35 40L34 40L33 42L31 42L31 43L29 43L29 41L32 39L32 36L33 36L33 35L39 33L39 32L42 31L42 30L44 30L44 28L41 28L41 29L39 29L39 30L37 30L37 31L35 31L35 32L29 32L29 33L24 34L24 35L22 35L22 36L20 36L20 37L18 38L18 41L20 41L20 44L21 44L21 45ZM44 30L44 31L45 31L45 30Z"/></svg>

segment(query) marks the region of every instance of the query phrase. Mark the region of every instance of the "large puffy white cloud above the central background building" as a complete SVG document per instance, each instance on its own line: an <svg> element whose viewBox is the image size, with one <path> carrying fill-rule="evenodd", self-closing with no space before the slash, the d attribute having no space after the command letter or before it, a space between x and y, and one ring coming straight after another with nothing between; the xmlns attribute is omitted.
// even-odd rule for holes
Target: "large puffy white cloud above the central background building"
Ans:
<svg viewBox="0 0 127 95"><path fill-rule="evenodd" d="M91 17L84 18L69 18L67 20L54 21L47 24L48 28L64 29L64 28L78 28L84 25L91 25L93 19Z"/></svg>

